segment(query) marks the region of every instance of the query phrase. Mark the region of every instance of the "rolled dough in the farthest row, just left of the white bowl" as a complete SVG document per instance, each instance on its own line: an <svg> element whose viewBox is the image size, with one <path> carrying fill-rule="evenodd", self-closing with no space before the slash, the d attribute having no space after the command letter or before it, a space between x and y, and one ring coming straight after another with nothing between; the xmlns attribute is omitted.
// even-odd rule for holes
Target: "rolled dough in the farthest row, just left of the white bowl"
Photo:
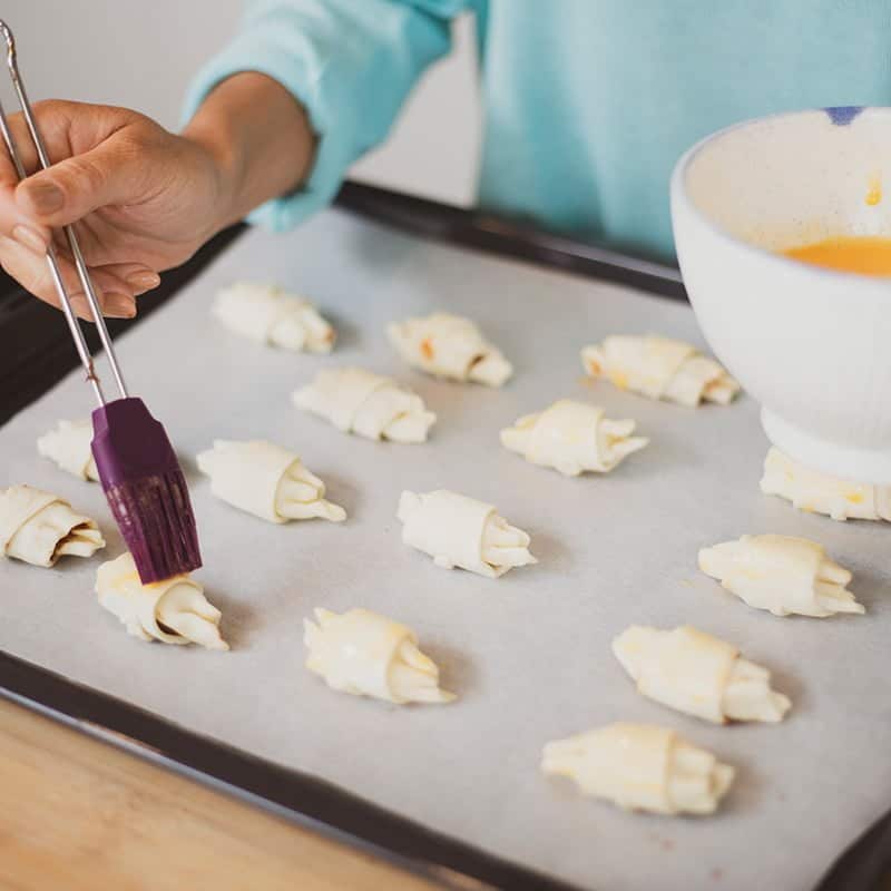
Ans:
<svg viewBox="0 0 891 891"><path fill-rule="evenodd" d="M621 390L682 405L703 400L726 405L740 384L713 359L668 337L613 335L581 351L581 364L595 378Z"/></svg>

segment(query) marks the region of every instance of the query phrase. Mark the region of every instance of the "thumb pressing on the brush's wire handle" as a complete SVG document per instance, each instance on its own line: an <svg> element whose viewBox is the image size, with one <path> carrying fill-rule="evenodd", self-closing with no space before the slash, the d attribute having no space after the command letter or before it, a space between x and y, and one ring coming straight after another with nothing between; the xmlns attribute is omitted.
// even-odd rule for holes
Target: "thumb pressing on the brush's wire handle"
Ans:
<svg viewBox="0 0 891 891"><path fill-rule="evenodd" d="M23 179L16 204L45 226L66 226L99 207L131 203L143 180L139 155L112 137Z"/></svg>

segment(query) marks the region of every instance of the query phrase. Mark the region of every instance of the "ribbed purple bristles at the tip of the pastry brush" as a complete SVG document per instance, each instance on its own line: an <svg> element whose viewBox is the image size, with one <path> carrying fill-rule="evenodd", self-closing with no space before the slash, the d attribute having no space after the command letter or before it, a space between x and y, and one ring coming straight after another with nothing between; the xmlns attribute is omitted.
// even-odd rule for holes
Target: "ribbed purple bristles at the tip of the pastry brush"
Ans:
<svg viewBox="0 0 891 891"><path fill-rule="evenodd" d="M195 515L182 471L120 482L106 490L144 584L202 565Z"/></svg>

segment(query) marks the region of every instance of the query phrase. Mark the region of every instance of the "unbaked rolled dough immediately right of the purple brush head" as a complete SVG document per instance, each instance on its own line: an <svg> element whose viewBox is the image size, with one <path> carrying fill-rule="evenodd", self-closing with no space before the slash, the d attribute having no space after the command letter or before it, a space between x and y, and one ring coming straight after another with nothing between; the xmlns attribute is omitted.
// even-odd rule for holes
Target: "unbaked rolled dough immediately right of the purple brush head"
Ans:
<svg viewBox="0 0 891 891"><path fill-rule="evenodd" d="M210 491L217 498L261 519L346 519L342 507L325 500L325 483L294 452L273 442L217 439L197 461L198 469L210 477Z"/></svg>

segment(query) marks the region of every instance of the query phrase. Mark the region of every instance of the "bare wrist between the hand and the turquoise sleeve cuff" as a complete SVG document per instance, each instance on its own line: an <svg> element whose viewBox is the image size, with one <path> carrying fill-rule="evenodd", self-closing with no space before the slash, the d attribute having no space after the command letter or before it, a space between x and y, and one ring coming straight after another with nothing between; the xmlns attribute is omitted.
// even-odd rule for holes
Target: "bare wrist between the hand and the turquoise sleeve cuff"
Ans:
<svg viewBox="0 0 891 891"><path fill-rule="evenodd" d="M255 71L221 82L183 136L215 158L217 229L297 188L312 167L316 141L303 107L277 80Z"/></svg>

